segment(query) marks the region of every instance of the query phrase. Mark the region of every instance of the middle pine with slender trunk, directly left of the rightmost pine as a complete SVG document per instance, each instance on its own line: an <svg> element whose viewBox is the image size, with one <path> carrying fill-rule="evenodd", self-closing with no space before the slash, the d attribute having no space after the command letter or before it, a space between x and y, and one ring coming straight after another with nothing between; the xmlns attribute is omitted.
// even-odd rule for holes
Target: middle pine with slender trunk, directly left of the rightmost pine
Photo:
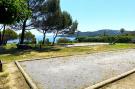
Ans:
<svg viewBox="0 0 135 89"><path fill-rule="evenodd" d="M59 0L47 0L46 4L40 6L40 16L34 18L34 27L43 33L42 44L45 44L47 31L54 27L51 20L54 13L59 9Z"/></svg>

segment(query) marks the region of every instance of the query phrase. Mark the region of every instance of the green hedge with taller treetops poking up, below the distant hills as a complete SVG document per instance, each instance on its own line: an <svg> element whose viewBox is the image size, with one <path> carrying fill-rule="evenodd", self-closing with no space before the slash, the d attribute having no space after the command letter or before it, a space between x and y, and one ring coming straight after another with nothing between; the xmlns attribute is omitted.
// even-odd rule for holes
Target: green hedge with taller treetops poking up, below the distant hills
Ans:
<svg viewBox="0 0 135 89"><path fill-rule="evenodd" d="M120 29L120 34L118 35L108 35L105 31L99 36L78 36L76 40L78 42L106 42L110 44L115 43L135 43L134 32L126 32L124 28Z"/></svg>

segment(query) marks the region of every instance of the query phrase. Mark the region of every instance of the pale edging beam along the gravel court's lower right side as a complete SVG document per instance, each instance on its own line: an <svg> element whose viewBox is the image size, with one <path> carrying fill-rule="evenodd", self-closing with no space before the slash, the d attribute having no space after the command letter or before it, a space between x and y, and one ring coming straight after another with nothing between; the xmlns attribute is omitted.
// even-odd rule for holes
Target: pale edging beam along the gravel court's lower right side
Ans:
<svg viewBox="0 0 135 89"><path fill-rule="evenodd" d="M123 74L121 74L121 75L118 75L118 76L116 76L116 77L112 77L112 78L110 78L110 79L107 79L107 80L105 80L105 81L102 81L102 82L100 82L100 83L97 83L97 84L92 85L92 86L90 86L90 87L88 87L88 88L85 88L85 89L98 89L98 88L104 87L104 86L107 85L107 84L113 83L113 82L118 81L118 80L120 80L120 79L122 79L122 78L124 78L124 77L127 77L128 75L131 75L131 74L133 74L133 73L135 73L135 69L130 70L130 71L128 71L128 72L125 72L125 73L123 73Z"/></svg>

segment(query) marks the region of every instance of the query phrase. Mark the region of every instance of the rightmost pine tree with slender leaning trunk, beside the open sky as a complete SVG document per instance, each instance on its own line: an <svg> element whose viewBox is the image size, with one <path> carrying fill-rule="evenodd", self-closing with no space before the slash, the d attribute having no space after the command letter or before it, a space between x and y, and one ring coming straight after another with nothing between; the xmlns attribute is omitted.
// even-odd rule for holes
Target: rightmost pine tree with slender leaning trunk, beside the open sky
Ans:
<svg viewBox="0 0 135 89"><path fill-rule="evenodd" d="M51 15L47 18L47 24L52 28L52 31L55 31L52 43L54 45L59 32L62 32L64 29L69 29L72 25L72 17L68 12L61 11L60 0L50 0L49 3L51 4L48 4L48 10L51 12Z"/></svg>

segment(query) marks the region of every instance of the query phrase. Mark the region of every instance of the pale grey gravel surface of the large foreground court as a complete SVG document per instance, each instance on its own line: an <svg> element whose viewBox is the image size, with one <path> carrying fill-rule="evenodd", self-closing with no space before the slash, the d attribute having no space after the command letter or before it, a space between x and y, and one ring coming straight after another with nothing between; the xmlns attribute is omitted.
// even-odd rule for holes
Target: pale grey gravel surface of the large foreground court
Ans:
<svg viewBox="0 0 135 89"><path fill-rule="evenodd" d="M20 62L41 89L82 89L135 67L135 49Z"/></svg>

